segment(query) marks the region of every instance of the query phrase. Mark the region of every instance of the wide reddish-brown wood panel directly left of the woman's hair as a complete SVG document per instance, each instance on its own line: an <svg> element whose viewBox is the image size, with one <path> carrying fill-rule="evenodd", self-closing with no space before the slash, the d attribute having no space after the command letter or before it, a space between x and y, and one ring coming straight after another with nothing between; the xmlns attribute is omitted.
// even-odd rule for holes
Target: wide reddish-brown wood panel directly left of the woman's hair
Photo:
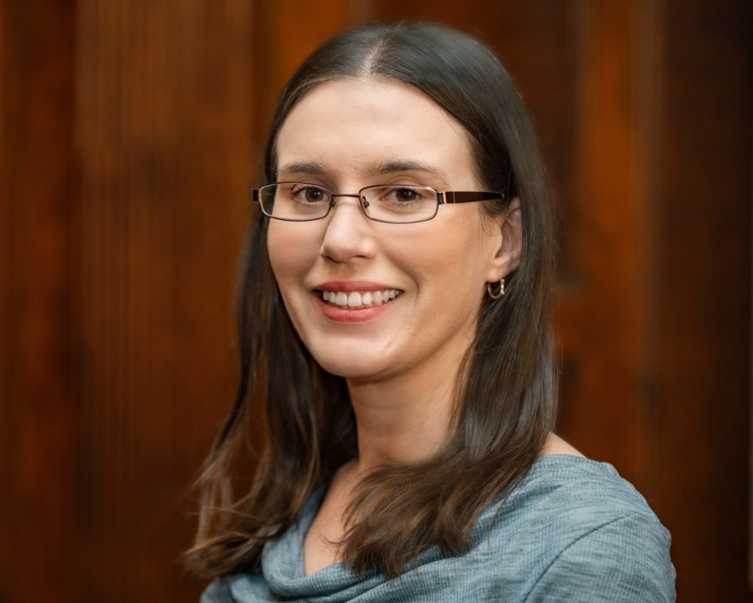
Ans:
<svg viewBox="0 0 753 603"><path fill-rule="evenodd" d="M80 575L87 601L197 600L187 488L236 380L253 20L242 0L81 0Z"/></svg>

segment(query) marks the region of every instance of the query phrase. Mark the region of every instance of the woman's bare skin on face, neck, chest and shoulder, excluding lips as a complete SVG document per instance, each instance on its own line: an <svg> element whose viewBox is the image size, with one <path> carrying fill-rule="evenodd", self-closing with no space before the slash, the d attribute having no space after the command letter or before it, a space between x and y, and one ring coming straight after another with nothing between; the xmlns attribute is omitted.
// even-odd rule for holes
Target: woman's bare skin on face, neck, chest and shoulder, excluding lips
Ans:
<svg viewBox="0 0 753 603"><path fill-rule="evenodd" d="M375 184L485 190L465 130L395 81L316 87L288 115L276 148L279 181L343 193ZM386 173L396 161L421 169ZM337 473L306 534L306 574L337 562L334 543L361 476L441 449L486 283L517 267L522 234L517 199L495 219L471 203L441 206L428 222L384 224L367 219L356 199L340 197L325 219L270 221L270 262L285 307L312 356L346 378L358 430L358 459ZM401 295L370 320L333 320L316 290L332 281L381 283ZM554 434L542 454L583 456Z"/></svg>

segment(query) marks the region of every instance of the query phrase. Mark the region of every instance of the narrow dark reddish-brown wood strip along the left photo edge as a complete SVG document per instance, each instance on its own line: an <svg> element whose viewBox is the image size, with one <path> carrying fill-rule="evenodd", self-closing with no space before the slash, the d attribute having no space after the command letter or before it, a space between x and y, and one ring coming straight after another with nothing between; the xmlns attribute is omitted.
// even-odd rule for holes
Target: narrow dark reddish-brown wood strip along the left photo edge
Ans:
<svg viewBox="0 0 753 603"><path fill-rule="evenodd" d="M70 3L0 6L0 601L74 569L73 48Z"/></svg>

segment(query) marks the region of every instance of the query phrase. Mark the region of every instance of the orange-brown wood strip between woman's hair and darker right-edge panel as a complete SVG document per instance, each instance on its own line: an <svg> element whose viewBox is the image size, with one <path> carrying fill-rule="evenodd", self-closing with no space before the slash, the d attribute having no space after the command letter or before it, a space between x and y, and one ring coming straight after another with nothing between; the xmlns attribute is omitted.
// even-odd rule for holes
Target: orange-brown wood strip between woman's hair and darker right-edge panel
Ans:
<svg viewBox="0 0 753 603"><path fill-rule="evenodd" d="M651 148L642 113L656 108L643 106L654 73L642 16L635 2L587 2L578 11L578 221L567 233L578 279L559 287L557 326L562 435L645 491Z"/></svg>

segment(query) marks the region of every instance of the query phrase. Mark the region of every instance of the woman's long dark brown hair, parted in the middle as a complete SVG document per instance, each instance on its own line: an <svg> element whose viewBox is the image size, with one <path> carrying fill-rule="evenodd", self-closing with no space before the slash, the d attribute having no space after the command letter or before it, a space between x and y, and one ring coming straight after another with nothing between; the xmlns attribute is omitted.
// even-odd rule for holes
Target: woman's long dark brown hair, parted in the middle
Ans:
<svg viewBox="0 0 753 603"><path fill-rule="evenodd" d="M368 476L349 508L342 559L353 571L396 577L430 546L449 555L473 546L480 513L520 483L553 428L550 205L508 73L473 38L424 24L355 29L314 51L279 99L265 183L276 179L276 136L292 107L343 78L389 78L433 99L471 134L486 190L519 197L523 216L520 266L503 298L483 302L452 439L431 461ZM270 268L267 218L254 211L239 290L242 376L200 479L198 534L186 553L188 567L207 576L258 570L264 543L284 534L306 498L358 454L345 380L325 372L298 338ZM258 455L251 439L263 442Z"/></svg>

